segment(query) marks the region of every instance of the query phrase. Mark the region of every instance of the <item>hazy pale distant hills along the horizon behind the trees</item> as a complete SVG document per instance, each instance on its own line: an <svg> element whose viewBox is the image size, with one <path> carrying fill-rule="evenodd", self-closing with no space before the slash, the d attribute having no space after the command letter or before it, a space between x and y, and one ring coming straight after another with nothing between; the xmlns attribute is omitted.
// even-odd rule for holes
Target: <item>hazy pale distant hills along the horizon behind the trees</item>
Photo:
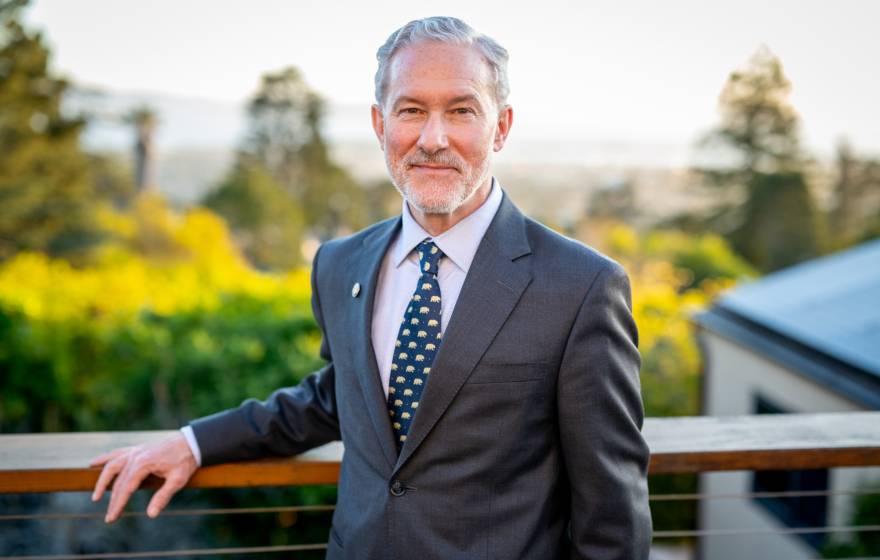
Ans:
<svg viewBox="0 0 880 560"><path fill-rule="evenodd" d="M142 105L159 116L160 190L178 204L199 200L223 177L246 133L244 106L81 87L65 110L90 117L84 137L87 149L129 157L133 134L122 117ZM334 157L355 177L387 177L368 106L330 104L325 134ZM691 203L684 175L676 170L686 152L686 147L675 145L541 138L515 129L505 149L496 154L496 172L520 206L556 223L577 219L593 192L619 181L631 183L640 206L660 218Z"/></svg>

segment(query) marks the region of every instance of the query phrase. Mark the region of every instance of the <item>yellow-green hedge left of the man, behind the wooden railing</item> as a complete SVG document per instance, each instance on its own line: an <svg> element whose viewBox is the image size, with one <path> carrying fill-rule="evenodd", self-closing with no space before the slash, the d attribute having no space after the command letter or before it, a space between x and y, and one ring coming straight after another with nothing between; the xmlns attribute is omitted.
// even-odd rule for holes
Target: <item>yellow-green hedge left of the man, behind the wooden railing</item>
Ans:
<svg viewBox="0 0 880 560"><path fill-rule="evenodd" d="M102 219L114 241L88 266L38 253L0 265L0 431L177 428L295 385L322 365L308 271L258 273L217 216L174 212L151 193ZM134 507L143 509L138 494ZM335 495L335 487L185 490L174 505L332 504ZM327 513L208 516L170 538L195 548L314 543L326 540L329 523ZM79 553L151 548L161 527L128 519L53 545ZM35 524L3 532L0 553L45 552L25 528Z"/></svg>

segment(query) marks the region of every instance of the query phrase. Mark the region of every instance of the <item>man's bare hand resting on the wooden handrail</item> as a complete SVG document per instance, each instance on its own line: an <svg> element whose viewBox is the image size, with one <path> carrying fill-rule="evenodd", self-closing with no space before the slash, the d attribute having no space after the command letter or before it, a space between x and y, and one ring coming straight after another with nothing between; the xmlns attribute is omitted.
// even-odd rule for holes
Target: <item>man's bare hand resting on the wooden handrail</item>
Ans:
<svg viewBox="0 0 880 560"><path fill-rule="evenodd" d="M95 457L89 463L91 467L101 465L104 470L95 484L93 502L100 500L107 486L116 479L110 504L107 506L107 515L104 517L107 523L119 519L131 495L151 474L165 479L165 483L153 494L147 506L147 515L156 517L199 468L186 438L181 433L158 443L115 449Z"/></svg>

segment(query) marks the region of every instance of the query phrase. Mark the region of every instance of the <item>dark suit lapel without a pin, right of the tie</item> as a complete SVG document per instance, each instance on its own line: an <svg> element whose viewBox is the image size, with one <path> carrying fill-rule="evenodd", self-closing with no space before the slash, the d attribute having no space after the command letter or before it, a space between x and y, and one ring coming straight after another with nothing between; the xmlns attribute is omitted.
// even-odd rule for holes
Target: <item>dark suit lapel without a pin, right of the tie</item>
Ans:
<svg viewBox="0 0 880 560"><path fill-rule="evenodd" d="M530 252L525 219L504 193L501 206L468 270L452 319L443 333L443 342L431 366L419 411L413 418L400 456L396 458L395 473L452 403L513 311L532 279L528 259L517 259Z"/></svg>

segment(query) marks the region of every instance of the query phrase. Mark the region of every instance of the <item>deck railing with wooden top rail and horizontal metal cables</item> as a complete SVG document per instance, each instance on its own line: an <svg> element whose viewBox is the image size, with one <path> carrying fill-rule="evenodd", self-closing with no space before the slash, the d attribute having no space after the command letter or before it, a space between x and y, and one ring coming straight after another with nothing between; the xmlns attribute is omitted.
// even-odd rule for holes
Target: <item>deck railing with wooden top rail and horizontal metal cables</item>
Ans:
<svg viewBox="0 0 880 560"><path fill-rule="evenodd" d="M0 449L4 452L0 454L0 494L90 490L97 478L97 471L83 466L88 464L89 457L109 448L166 435L162 432L0 435ZM880 466L880 412L733 418L655 418L646 421L645 435L651 448L652 474ZM200 469L190 486L241 488L334 484L338 479L342 451L341 445L332 444L297 458L207 467ZM157 482L154 480L151 483L155 485ZM853 486L790 491L766 491L768 487L765 486L755 487L760 491L753 492L737 492L738 488L741 486L715 487L714 492L655 494L650 500L652 506L657 507L661 505L677 507L676 503L686 504L687 501L706 503L707 507L711 507L712 504L719 504L724 500L731 501L731 507L740 507L736 500L764 503L766 500L829 498L831 502L832 498L849 497L857 500L866 495L880 493L876 489ZM76 508L75 505L71 507ZM92 504L86 506L84 503L85 511L4 512L0 514L0 530L3 530L2 522L20 524L49 522L49 527L53 526L52 522L99 522L103 519L104 512L94 511L93 507ZM161 521L162 518L275 514L279 516L282 526L286 527L287 525L281 521L284 515L330 512L333 509L332 505L174 509L163 512L160 520L157 521ZM142 518L145 513L131 511L124 513L123 516ZM706 526L696 528L664 527L662 530L656 530L654 537L663 542L692 543L699 540L703 543L701 539L737 539L757 535L800 535L800 539L805 538L804 535L843 535L860 538L862 535L880 532L880 525L874 524L873 519L861 519L849 523L833 516L829 516L828 519L834 519L833 524L785 526L785 523L780 522L753 527L733 526L736 525L735 522L730 523L731 526L723 526L715 520ZM790 525L808 524L809 522L790 523ZM743 525L748 523L744 522ZM114 531L114 528L110 527L107 530ZM20 555L0 556L0 560L220 557L252 554L283 555L308 551L318 551L317 554L327 546L324 543L315 543L204 548L206 544L204 542L188 544L191 548L178 550L102 551L53 555L26 555L32 554L31 549L16 549ZM41 552L39 549L32 550ZM60 551L65 552L64 549ZM11 550L0 547L0 554L9 552ZM855 557L849 558L855 560ZM865 558L864 552L858 558Z"/></svg>

